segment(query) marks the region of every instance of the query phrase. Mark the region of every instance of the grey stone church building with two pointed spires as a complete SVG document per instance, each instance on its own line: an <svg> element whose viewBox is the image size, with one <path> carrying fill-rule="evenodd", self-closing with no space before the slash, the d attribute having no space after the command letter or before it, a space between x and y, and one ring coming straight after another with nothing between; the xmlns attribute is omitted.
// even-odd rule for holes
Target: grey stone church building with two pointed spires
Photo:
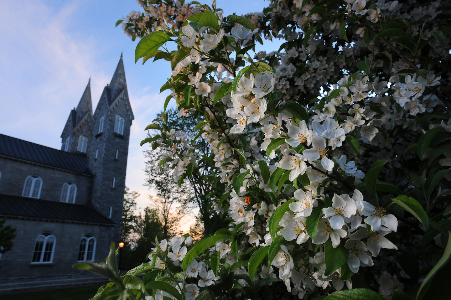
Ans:
<svg viewBox="0 0 451 300"><path fill-rule="evenodd" d="M105 261L120 242L133 119L121 55L94 113L89 80L61 150L0 134L0 219L16 228L0 254L0 295L104 284L72 265Z"/></svg>

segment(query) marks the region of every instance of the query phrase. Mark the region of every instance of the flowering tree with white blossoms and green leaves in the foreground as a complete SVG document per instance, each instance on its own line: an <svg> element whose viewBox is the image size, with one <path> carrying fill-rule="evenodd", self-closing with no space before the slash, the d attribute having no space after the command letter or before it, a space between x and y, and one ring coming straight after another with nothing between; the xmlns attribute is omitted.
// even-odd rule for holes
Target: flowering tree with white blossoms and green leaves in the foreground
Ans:
<svg viewBox="0 0 451 300"><path fill-rule="evenodd" d="M157 240L124 277L112 248L106 265L83 265L113 270L98 299L447 295L447 1L272 0L227 17L215 2L138 2L144 13L118 24L141 38L137 61L170 61L164 108L175 98L180 117L203 116L196 138L211 152L164 117L143 143L229 226L194 244ZM249 54L272 38L286 41L279 51Z"/></svg>

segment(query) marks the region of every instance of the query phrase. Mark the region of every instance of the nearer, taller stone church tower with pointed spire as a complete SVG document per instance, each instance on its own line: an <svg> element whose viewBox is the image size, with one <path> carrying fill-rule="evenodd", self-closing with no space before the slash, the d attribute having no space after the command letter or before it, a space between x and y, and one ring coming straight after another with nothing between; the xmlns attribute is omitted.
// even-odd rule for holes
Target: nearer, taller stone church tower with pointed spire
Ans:
<svg viewBox="0 0 451 300"><path fill-rule="evenodd" d="M112 238L117 245L120 242L130 126L134 119L122 54L92 119L89 168L94 179L91 206L116 223Z"/></svg>

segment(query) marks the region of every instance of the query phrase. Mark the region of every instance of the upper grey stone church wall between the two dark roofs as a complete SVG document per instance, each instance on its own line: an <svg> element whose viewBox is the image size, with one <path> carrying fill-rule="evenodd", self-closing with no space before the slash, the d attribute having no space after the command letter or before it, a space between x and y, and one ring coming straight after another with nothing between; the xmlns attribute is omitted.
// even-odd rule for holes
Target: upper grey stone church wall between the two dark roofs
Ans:
<svg viewBox="0 0 451 300"><path fill-rule="evenodd" d="M60 201L64 183L73 182L77 186L75 203L89 204L92 176L5 157L0 157L0 171L0 194L22 196L27 176L38 175L42 178L40 199Z"/></svg>

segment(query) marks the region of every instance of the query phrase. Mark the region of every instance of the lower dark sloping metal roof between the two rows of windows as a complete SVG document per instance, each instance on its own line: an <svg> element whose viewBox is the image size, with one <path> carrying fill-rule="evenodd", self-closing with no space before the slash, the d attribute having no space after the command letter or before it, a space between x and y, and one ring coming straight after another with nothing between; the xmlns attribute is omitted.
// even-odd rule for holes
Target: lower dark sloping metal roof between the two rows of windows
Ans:
<svg viewBox="0 0 451 300"><path fill-rule="evenodd" d="M94 209L71 203L0 194L0 216L55 222L114 225Z"/></svg>

